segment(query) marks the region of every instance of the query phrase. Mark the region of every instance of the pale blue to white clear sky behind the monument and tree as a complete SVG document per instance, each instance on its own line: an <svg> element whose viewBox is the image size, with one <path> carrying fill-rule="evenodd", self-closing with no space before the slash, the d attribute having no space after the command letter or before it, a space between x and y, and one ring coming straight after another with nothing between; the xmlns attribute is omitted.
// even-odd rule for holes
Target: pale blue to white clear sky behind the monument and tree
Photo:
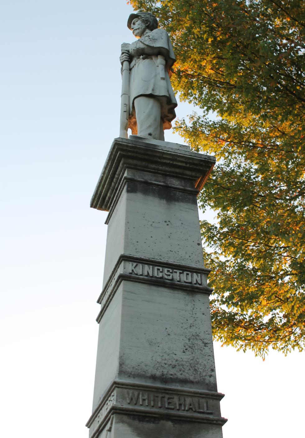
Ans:
<svg viewBox="0 0 305 438"><path fill-rule="evenodd" d="M0 4L1 436L88 436L107 215L89 202L118 136L131 11ZM302 354L262 362L216 344L215 357L224 438L302 436Z"/></svg>

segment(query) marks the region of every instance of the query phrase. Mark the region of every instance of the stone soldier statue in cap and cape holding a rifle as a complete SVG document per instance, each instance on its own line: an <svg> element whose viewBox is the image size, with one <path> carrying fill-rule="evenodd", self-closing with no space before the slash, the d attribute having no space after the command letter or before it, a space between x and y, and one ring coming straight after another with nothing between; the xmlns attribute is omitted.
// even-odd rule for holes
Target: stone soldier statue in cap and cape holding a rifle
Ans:
<svg viewBox="0 0 305 438"><path fill-rule="evenodd" d="M127 26L137 41L121 47L123 75L124 66L129 68L126 132L128 127L132 134L164 140L164 129L170 129L176 117L177 101L170 84L170 68L176 60L173 47L149 12L131 14Z"/></svg>

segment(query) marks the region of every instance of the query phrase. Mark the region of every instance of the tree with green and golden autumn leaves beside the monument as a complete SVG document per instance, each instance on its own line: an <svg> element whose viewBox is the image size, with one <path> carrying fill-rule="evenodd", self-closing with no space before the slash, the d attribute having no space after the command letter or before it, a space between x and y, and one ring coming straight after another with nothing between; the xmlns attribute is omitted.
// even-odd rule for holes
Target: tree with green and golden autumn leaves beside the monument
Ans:
<svg viewBox="0 0 305 438"><path fill-rule="evenodd" d="M214 337L260 356L302 350L305 2L130 3L170 33L173 87L198 106L176 131L218 162L199 197L218 219L201 222Z"/></svg>

